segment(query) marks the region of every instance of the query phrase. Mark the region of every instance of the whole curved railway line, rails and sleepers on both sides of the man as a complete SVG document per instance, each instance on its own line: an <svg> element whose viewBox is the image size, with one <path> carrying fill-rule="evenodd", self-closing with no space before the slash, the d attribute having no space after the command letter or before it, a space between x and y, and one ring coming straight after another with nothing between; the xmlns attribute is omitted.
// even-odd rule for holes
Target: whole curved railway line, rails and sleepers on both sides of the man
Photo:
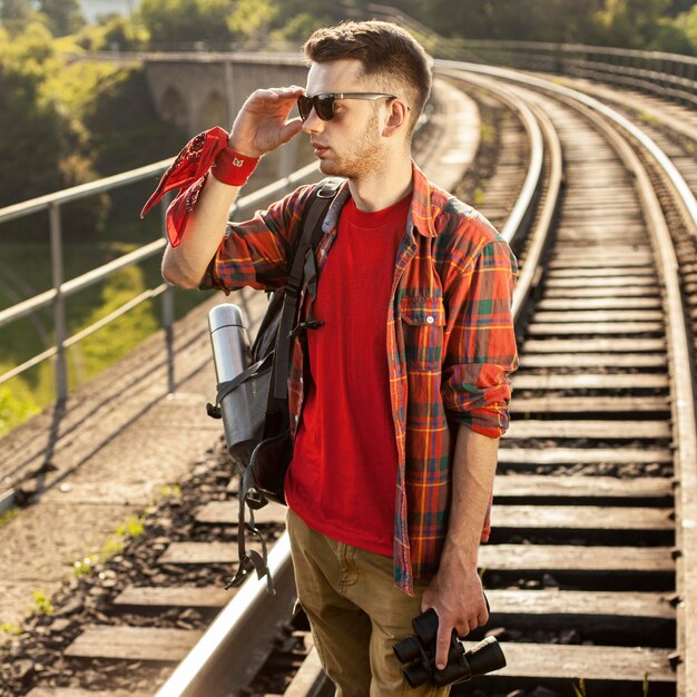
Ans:
<svg viewBox="0 0 697 697"><path fill-rule="evenodd" d="M478 207L521 262L521 365L500 449L493 534L480 551L492 613L479 635L499 638L508 666L453 695L694 697L694 180L667 178L659 154L627 131L621 115L563 86L451 61L436 61L436 70L517 115L499 134L505 149L499 146ZM438 151L436 144L429 139L428 149ZM695 161L684 155L688 177ZM277 595L253 579L227 602L209 579L227 576L235 558L235 480L215 465L205 477L208 503L183 529L188 541L173 542L165 529L149 540L150 588L110 598L95 615L100 626L71 628L65 665L75 679L67 685L79 683L76 660L89 671L100 656L120 689L151 694L153 680L169 671L161 664L187 655L159 696L331 694L306 628L291 621L283 511L265 509L262 521L281 536L271 552ZM170 526L183 507L165 505ZM217 542L197 541L206 528ZM199 565L209 567L208 580L181 572ZM163 631L154 629L157 615L167 616ZM119 683L145 662L154 666L145 691L137 680ZM240 693L259 670L281 677ZM39 685L30 695L82 693Z"/></svg>

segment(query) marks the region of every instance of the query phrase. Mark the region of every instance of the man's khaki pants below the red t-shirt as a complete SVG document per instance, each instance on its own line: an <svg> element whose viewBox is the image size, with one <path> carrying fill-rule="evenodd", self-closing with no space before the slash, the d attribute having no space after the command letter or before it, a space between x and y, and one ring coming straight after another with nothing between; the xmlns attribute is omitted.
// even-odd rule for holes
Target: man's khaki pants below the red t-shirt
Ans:
<svg viewBox="0 0 697 697"><path fill-rule="evenodd" d="M322 667L336 697L445 697L430 683L412 689L392 646L413 634L425 585L394 587L392 558L332 540L288 509L295 582Z"/></svg>

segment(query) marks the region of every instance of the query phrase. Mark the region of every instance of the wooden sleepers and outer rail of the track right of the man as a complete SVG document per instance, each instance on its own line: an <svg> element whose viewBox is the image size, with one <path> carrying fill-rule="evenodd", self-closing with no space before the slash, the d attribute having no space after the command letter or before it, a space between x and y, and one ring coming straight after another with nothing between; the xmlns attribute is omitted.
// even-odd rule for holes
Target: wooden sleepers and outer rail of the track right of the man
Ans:
<svg viewBox="0 0 697 697"><path fill-rule="evenodd" d="M674 501L673 487L691 477L693 397L676 390L693 379L688 361L674 362L687 336L676 331L675 267L660 258L667 225L650 173L616 131L583 107L528 99L559 135L566 186L521 328L497 532L480 553L490 626L514 639L509 668L487 686L690 694L683 610L694 587L680 568L690 544L685 491Z"/></svg>

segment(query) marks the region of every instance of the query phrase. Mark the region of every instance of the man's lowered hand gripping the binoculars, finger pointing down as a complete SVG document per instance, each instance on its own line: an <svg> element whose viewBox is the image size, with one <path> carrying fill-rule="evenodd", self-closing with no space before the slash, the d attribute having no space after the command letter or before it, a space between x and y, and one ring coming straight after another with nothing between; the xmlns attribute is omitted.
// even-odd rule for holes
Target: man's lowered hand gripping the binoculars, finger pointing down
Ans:
<svg viewBox="0 0 697 697"><path fill-rule="evenodd" d="M443 556L438 573L421 599L421 611L429 608L438 615L435 666L442 670L448 662L452 630L465 637L489 620L477 566Z"/></svg>

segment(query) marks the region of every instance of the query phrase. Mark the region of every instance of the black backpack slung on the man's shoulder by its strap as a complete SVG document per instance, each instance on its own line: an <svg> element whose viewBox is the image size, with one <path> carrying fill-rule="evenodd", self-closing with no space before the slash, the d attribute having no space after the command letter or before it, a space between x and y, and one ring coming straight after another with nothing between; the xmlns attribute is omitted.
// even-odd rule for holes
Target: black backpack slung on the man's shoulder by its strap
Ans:
<svg viewBox="0 0 697 697"><path fill-rule="evenodd" d="M245 419L252 418L255 424L252 441L238 444L229 442L228 438L227 442L230 455L239 465L239 567L226 588L240 585L256 569L259 578L267 575L268 590L273 592L266 566L266 543L254 524L253 511L266 505L268 501L285 503L285 473L293 455L287 395L291 346L296 334L324 324L312 316L312 303L316 297L318 279L315 248L322 239L322 224L328 207L344 181L341 178L327 178L310 192L295 246L288 254L285 286L271 294L268 307L252 346L252 364L234 380L219 383L215 405L207 405L208 415L220 419L220 405L225 397L235 390L244 390L243 402L247 410ZM311 304L305 320L298 322L300 294L305 281L305 292ZM234 419L234 415L228 418ZM226 436L227 434L226 428ZM245 520L246 507L249 508L248 521ZM246 550L245 530L258 537L262 554L255 550Z"/></svg>

